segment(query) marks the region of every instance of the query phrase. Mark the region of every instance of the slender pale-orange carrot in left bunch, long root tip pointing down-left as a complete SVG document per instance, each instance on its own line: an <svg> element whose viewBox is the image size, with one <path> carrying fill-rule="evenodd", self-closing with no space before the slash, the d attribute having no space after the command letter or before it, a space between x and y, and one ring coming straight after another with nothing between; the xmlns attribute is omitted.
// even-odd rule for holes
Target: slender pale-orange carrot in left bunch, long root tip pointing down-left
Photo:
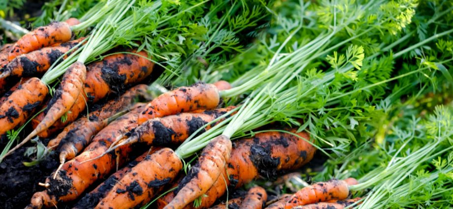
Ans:
<svg viewBox="0 0 453 209"><path fill-rule="evenodd" d="M55 92L54 97L49 102L49 106L44 111L46 116L36 126L24 141L18 146L23 145L41 131L49 128L55 121L59 120L74 105L75 100L82 92L82 85L86 77L86 68L82 62L74 62L63 75L62 83Z"/></svg>

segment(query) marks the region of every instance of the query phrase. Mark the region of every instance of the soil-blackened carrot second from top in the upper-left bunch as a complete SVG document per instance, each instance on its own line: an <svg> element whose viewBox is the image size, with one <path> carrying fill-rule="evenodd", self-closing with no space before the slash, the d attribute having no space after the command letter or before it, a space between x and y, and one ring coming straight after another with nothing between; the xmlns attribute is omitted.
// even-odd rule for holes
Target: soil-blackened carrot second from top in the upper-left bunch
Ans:
<svg viewBox="0 0 453 209"><path fill-rule="evenodd" d="M5 80L10 77L31 77L46 72L53 63L83 39L79 38L57 46L45 47L14 58L4 66L0 74L0 85L5 84ZM69 55L70 53L66 54L63 59ZM0 86L0 88L2 87L4 86Z"/></svg>

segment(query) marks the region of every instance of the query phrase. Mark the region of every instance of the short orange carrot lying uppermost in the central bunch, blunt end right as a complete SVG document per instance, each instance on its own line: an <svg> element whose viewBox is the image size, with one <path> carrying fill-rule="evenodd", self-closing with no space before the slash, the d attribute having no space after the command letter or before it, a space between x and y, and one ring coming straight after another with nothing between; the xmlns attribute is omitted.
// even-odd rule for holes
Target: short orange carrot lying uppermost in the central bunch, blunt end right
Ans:
<svg viewBox="0 0 453 209"><path fill-rule="evenodd" d="M213 109L220 101L219 90L213 84L196 83L190 87L181 87L161 94L149 102L146 110L140 115L141 124L151 118L175 115L184 110L190 112L199 109Z"/></svg>

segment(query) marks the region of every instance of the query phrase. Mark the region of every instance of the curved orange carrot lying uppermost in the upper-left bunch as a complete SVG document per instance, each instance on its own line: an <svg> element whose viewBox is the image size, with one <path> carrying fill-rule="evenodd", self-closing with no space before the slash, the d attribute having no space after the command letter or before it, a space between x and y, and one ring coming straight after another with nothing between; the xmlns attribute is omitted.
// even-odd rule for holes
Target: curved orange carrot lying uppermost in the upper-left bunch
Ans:
<svg viewBox="0 0 453 209"><path fill-rule="evenodd" d="M9 50L8 61L19 55L26 54L56 43L67 42L71 39L72 31L65 22L53 22L47 26L38 27L22 36Z"/></svg>

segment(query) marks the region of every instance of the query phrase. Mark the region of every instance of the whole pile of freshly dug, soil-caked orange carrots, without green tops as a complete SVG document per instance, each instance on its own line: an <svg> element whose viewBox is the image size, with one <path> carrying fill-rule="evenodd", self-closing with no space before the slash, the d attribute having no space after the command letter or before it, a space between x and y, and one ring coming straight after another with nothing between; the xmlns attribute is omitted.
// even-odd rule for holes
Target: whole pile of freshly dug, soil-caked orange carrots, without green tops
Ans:
<svg viewBox="0 0 453 209"><path fill-rule="evenodd" d="M39 76L84 43L84 38L71 40L71 24L78 21L37 28L0 52L1 138L28 120L32 125L30 135L7 155L36 135L50 137L47 148L59 153L60 166L39 183L43 191L32 196L28 209L70 201L77 209L136 208L152 200L163 209L342 209L359 203L348 199L355 179L332 179L273 202L255 186L215 206L228 191L310 162L313 139L285 127L234 141L220 135L185 172L188 164L171 148L236 114L236 107L225 106L220 97L231 86L196 83L136 102L139 96L149 98L141 83L151 76L154 62L131 49L88 65L75 62L49 93ZM88 107L94 108L83 115ZM149 150L129 161L136 144Z"/></svg>

